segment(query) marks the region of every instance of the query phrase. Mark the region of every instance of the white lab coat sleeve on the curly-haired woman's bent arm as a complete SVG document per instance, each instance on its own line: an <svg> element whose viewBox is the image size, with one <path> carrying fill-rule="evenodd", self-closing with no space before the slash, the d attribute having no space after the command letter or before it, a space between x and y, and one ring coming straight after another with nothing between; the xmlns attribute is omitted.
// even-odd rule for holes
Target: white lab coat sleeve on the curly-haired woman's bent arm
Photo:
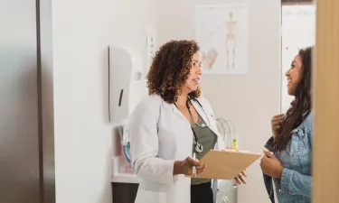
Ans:
<svg viewBox="0 0 339 203"><path fill-rule="evenodd" d="M138 178L159 183L173 181L174 161L157 157L159 106L141 102L130 117L129 139L132 167Z"/></svg>

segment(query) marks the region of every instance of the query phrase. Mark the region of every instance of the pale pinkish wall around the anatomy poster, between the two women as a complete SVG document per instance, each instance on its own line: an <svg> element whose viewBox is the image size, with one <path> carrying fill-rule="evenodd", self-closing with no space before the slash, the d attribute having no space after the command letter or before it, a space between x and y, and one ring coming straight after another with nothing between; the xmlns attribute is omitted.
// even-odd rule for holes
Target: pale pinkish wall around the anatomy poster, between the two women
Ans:
<svg viewBox="0 0 339 203"><path fill-rule="evenodd" d="M270 136L271 116L279 113L280 1L272 0L172 0L160 5L158 43L194 39L194 6L249 3L249 74L202 76L204 97L218 117L231 119L240 134L240 149L262 152ZM249 169L249 183L238 192L239 203L264 203L268 194L259 161Z"/></svg>

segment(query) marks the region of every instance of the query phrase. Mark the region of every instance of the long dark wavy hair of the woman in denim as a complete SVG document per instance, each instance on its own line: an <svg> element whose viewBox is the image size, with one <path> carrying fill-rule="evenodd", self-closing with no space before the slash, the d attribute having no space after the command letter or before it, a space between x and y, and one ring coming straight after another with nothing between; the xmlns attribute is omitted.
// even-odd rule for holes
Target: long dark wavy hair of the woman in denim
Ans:
<svg viewBox="0 0 339 203"><path fill-rule="evenodd" d="M295 99L287 110L286 117L281 123L279 135L272 144L272 151L281 152L286 149L291 132L304 121L304 114L311 109L311 78L312 78L313 47L306 47L298 52L302 60L301 80L297 84Z"/></svg>

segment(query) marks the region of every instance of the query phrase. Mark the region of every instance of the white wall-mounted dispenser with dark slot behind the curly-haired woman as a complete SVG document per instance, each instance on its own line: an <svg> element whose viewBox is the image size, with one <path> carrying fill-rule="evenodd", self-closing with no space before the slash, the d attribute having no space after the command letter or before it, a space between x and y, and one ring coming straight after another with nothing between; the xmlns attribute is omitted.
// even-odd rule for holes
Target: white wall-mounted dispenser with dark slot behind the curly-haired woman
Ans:
<svg viewBox="0 0 339 203"><path fill-rule="evenodd" d="M127 118L147 94L142 56L121 47L108 47L109 121L119 123Z"/></svg>

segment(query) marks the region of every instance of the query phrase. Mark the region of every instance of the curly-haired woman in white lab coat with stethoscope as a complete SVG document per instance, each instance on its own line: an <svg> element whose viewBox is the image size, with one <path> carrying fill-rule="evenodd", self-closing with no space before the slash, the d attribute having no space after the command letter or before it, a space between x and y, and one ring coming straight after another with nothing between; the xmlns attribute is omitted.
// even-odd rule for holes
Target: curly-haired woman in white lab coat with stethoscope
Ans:
<svg viewBox="0 0 339 203"><path fill-rule="evenodd" d="M212 180L185 177L189 167L196 173L208 170L198 160L224 146L212 107L201 97L201 63L193 41L167 42L155 54L147 75L149 97L130 116L132 167L140 180L136 203L215 199ZM243 175L237 177L239 183L246 182Z"/></svg>

